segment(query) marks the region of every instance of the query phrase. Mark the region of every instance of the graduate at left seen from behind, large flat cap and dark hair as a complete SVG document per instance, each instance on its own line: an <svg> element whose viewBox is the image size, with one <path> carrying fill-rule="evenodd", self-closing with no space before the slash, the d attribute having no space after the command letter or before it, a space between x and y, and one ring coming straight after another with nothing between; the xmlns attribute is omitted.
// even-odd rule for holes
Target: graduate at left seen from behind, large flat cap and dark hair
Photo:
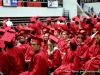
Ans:
<svg viewBox="0 0 100 75"><path fill-rule="evenodd" d="M4 75L18 75L24 71L24 54L22 48L14 46L14 37L14 33L6 32L1 38L1 40L5 41L7 47L1 70Z"/></svg>

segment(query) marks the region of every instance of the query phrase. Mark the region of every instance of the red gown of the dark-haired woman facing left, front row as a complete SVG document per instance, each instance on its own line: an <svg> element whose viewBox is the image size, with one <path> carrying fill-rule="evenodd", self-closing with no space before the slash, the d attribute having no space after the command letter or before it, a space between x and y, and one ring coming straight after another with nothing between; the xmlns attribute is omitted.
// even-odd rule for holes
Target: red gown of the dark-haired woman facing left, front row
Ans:
<svg viewBox="0 0 100 75"><path fill-rule="evenodd" d="M62 65L54 71L54 75L73 75L70 71L77 70L78 64L79 57L77 56L76 51L70 52L70 49L68 49L68 52L62 61Z"/></svg>

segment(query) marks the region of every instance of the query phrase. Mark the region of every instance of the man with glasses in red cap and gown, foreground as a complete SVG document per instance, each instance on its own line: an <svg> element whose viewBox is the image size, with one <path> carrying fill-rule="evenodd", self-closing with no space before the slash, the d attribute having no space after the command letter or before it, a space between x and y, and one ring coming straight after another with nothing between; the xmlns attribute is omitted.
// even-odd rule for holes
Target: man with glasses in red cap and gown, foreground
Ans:
<svg viewBox="0 0 100 75"><path fill-rule="evenodd" d="M32 56L28 71L19 75L47 75L48 59L45 53L40 50L41 41L42 39L40 37L32 36L31 46L35 54Z"/></svg>

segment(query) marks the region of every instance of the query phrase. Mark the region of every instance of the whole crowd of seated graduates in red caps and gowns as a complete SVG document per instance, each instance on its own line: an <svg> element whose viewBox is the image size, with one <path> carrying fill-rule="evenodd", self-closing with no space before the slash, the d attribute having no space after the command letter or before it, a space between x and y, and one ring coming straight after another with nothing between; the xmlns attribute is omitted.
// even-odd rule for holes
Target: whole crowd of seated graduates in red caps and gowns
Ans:
<svg viewBox="0 0 100 75"><path fill-rule="evenodd" d="M26 26L0 28L3 75L93 75L100 68L100 17L60 16L43 24L39 16Z"/></svg>

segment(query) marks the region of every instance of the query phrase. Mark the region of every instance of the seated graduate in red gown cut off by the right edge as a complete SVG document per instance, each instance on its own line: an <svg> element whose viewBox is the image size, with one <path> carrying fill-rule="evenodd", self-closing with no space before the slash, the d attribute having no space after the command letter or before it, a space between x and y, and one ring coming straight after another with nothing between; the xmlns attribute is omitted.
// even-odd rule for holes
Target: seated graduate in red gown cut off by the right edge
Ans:
<svg viewBox="0 0 100 75"><path fill-rule="evenodd" d="M100 33L95 36L96 43L89 49L89 60L83 65L82 75L93 75L100 68Z"/></svg>

